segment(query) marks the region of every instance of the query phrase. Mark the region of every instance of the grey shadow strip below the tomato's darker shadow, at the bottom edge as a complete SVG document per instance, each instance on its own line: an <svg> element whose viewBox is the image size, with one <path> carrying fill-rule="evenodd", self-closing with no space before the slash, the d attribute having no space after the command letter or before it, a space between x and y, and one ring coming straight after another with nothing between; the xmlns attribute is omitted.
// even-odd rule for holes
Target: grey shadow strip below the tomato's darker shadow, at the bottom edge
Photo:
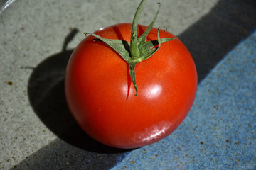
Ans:
<svg viewBox="0 0 256 170"><path fill-rule="evenodd" d="M125 157L125 153L90 152L61 139L54 140L38 152L30 155L12 169L22 170L107 170Z"/></svg>

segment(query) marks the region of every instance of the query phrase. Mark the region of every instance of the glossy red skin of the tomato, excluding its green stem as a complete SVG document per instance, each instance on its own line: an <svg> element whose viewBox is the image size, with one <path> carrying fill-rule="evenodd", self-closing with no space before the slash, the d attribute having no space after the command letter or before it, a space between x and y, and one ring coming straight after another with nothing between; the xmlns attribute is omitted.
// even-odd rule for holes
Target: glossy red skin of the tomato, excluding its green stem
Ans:
<svg viewBox="0 0 256 170"><path fill-rule="evenodd" d="M130 41L132 23L95 31L102 38ZM141 35L146 26L138 26ZM160 30L161 38L174 37ZM75 48L65 75L65 95L75 120L92 138L117 148L159 141L186 118L197 88L196 66L178 38L161 44L135 67L138 94L128 64L104 42L88 36ZM157 40L152 28L147 40Z"/></svg>

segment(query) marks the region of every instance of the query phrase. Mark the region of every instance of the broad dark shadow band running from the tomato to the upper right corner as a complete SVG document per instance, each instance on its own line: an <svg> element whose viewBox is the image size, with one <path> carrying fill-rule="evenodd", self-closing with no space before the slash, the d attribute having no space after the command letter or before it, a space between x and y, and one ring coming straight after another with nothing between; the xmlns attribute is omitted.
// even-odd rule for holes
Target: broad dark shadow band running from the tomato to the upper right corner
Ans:
<svg viewBox="0 0 256 170"><path fill-rule="evenodd" d="M178 38L195 60L198 81L256 28L256 1L221 0Z"/></svg>

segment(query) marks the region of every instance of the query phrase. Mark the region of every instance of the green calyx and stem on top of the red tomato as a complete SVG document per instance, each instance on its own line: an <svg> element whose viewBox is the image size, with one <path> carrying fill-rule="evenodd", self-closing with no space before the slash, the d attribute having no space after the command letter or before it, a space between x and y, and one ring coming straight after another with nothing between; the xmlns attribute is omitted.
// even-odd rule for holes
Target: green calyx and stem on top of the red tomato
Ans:
<svg viewBox="0 0 256 170"><path fill-rule="evenodd" d="M168 42L170 40L174 40L174 38L160 38L159 36L159 29L157 31L157 40L151 40L146 41L146 37L149 34L151 28L154 26L154 23L156 21L156 18L159 13L159 9L161 4L159 4L158 11L156 12L156 15L154 16L153 21L151 21L150 25L144 33L137 37L137 27L138 27L138 21L139 21L139 15L142 12L142 8L144 4L146 3L146 0L142 0L139 4L139 7L137 8L137 11L135 13L134 19L132 21L132 32L131 32L131 41L127 42L125 40L114 40L114 39L107 39L102 38L99 35L96 35L94 33L85 33L85 35L92 35L94 36L96 41L102 41L105 42L106 45L111 47L113 50L115 50L129 65L129 74L132 79L132 83L134 84L134 88L136 90L135 96L138 94L136 79L135 79L135 65L139 62L142 62L143 60L148 59L154 53L159 50L159 47L161 43Z"/></svg>

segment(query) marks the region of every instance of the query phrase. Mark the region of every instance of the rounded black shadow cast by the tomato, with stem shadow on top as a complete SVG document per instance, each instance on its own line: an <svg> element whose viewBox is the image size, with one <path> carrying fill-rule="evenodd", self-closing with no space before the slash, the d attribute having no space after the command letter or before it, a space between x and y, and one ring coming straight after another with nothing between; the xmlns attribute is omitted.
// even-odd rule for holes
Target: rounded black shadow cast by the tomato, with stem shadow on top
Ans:
<svg viewBox="0 0 256 170"><path fill-rule="evenodd" d="M66 50L77 29L70 31L63 42L60 53L46 57L38 66L28 81L28 97L38 118L61 140L75 147L91 152L115 153L115 149L92 140L75 122L65 101L64 78L65 68L73 50Z"/></svg>

